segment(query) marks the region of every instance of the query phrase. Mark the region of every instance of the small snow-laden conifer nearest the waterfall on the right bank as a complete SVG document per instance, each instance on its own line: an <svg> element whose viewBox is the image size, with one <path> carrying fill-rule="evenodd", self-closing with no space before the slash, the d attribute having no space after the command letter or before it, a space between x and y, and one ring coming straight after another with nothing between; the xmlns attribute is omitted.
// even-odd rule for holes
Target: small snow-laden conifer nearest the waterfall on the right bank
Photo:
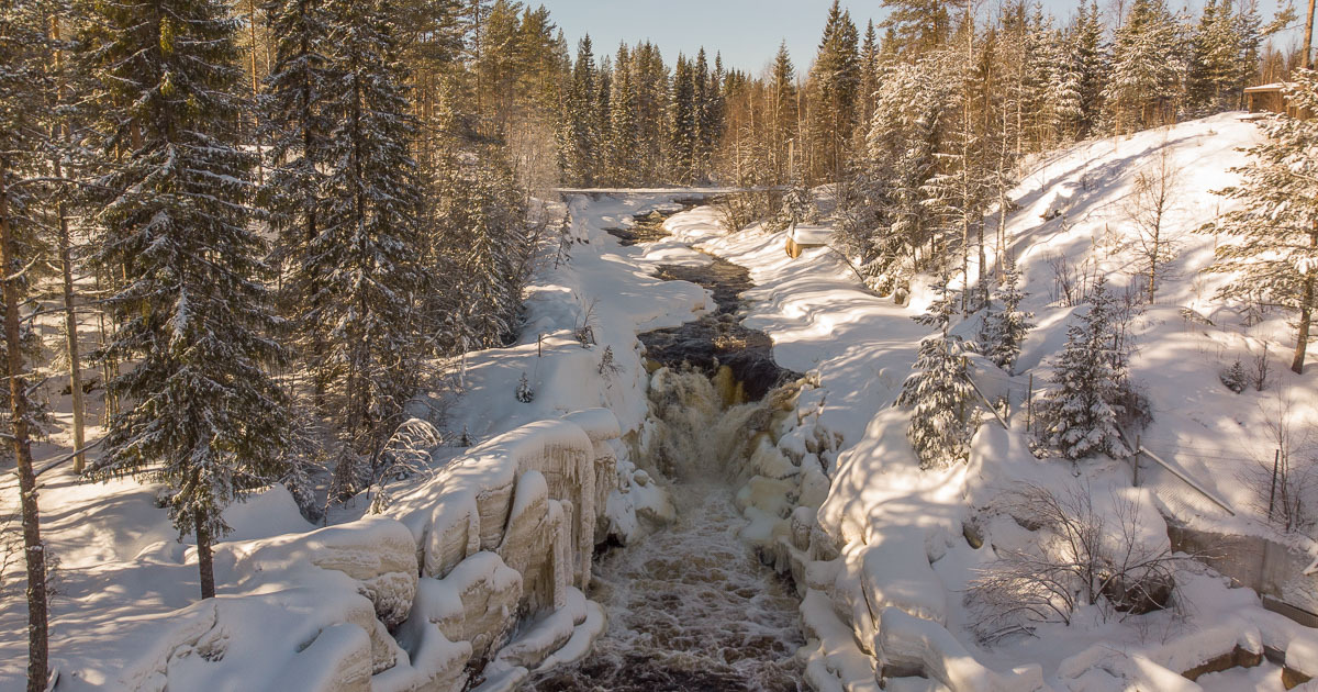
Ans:
<svg viewBox="0 0 1318 692"><path fill-rule="evenodd" d="M978 427L971 397L974 390L967 374L971 344L949 333L956 295L948 291L944 275L934 287L938 298L929 312L916 322L934 326L938 333L920 341L916 373L907 377L898 395L898 406L911 406L907 439L920 457L920 468L946 468L970 457L970 440Z"/></svg>

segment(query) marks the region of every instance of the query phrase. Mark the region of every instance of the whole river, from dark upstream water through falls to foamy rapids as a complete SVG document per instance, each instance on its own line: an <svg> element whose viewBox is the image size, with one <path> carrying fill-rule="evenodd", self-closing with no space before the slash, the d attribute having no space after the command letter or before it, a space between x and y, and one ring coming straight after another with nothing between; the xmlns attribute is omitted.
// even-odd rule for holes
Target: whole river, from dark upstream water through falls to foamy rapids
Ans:
<svg viewBox="0 0 1318 692"><path fill-rule="evenodd" d="M625 243L655 240L662 219L638 219ZM648 221L648 223L647 223ZM618 235L618 233L616 233ZM530 689L668 692L804 689L795 658L804 643L792 585L764 567L739 531L738 471L749 431L770 415L762 401L796 373L774 365L770 339L737 319L747 272L716 260L664 266L700 283L718 310L641 336L659 370L642 464L670 484L676 521L614 548L588 594L609 613L608 631L583 662L532 679ZM681 368L683 362L689 368Z"/></svg>

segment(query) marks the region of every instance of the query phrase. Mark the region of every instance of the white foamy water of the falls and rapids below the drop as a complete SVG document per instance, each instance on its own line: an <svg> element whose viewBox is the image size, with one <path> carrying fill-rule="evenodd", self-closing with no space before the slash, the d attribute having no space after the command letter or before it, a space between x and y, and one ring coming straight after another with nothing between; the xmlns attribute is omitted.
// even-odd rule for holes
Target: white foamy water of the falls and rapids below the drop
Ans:
<svg viewBox="0 0 1318 692"><path fill-rule="evenodd" d="M651 386L650 453L676 476L677 521L600 560L589 597L608 609L608 631L584 662L530 689L804 689L800 601L739 538L746 521L733 502L746 423L764 413L724 410L699 373L663 373Z"/></svg>

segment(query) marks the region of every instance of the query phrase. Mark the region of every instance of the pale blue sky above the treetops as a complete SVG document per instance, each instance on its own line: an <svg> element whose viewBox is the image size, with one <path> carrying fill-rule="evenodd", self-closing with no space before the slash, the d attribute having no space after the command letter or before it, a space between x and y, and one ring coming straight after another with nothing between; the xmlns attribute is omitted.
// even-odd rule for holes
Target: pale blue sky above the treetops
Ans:
<svg viewBox="0 0 1318 692"><path fill-rule="evenodd" d="M1202 4L1189 1L1195 8ZM1277 1L1259 0L1264 21L1272 17ZM679 51L695 55L705 46L710 61L714 51L722 51L726 65L758 74L783 40L797 72L803 71L815 57L832 0L530 0L531 5L542 3L563 28L573 54L585 33L590 34L596 55L616 53L618 41L648 38L670 65ZM1045 12L1065 21L1078 0L1043 3ZM1108 3L1099 0L1099 7ZM1180 8L1184 0L1168 0L1168 5ZM878 24L883 17L878 0L844 0L842 7L851 11L861 32L866 20Z"/></svg>

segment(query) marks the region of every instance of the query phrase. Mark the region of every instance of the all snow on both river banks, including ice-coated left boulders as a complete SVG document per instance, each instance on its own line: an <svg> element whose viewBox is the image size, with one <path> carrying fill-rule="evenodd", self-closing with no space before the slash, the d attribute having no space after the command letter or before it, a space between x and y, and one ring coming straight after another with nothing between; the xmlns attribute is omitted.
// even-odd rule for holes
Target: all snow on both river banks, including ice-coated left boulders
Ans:
<svg viewBox="0 0 1318 692"><path fill-rule="evenodd" d="M704 289L650 275L659 264L709 261L692 246L750 269L757 286L743 295L746 326L771 335L780 365L817 384L789 403L776 443L757 442L739 469L738 497L753 519L743 538L789 568L803 593L809 642L801 655L813 688L878 689L886 664L933 679L895 675L890 688L900 689L1276 688L1278 668L1269 663L1194 683L1180 676L1236 646L1278 651L1289 667L1318 675L1314 630L1261 609L1252 591L1228 588L1205 567L1178 575L1176 613L1104 618L1091 608L1069 626L1040 625L1035 637L992 643L975 638L962 602L995 546L1036 539L985 511L1027 481L1056 490L1083 484L1103 515L1133 507L1143 546L1165 546L1166 517L1318 556L1313 540L1260 521L1239 477L1271 461L1267 423L1278 394L1293 402L1296 430L1318 424L1315 366L1304 376L1285 370L1286 315L1246 326L1240 306L1214 297L1226 278L1198 269L1211 261L1215 239L1189 233L1226 208L1210 191L1232 182L1228 169L1244 161L1238 149L1256 137L1255 125L1227 113L1031 162L1012 192L1020 210L1007 219L1004 253L1017 261L1029 293L1021 310L1039 327L1023 344L1017 374L973 362L979 388L1010 399L1010 430L982 424L969 461L938 471L919 468L905 434L909 410L892 406L931 333L911 319L933 299L929 277L896 304L867 290L833 250L811 248L792 260L784 232L728 232L710 207L668 219L672 239L622 246L604 229L671 210L681 194L573 196L572 258L536 274L519 340L464 359L465 394L445 426L476 444L436 449L427 473L393 489L382 517L362 518L369 502L358 498L332 515L333 526L314 530L289 493L272 488L227 510L235 533L216 546L220 597L194 602L195 548L177 542L156 486L80 484L65 468L43 475L43 530L61 559L53 602L59 689L245 689L252 680L453 689L467 683L468 660L486 656L493 663L480 689L509 689L531 670L583 658L605 627L600 606L581 593L594 542L605 534L635 540L675 511L663 484L631 459L648 430L650 378L637 333L713 307ZM1078 319L1056 299L1057 258L1111 275L1116 289L1130 282L1124 200L1164 149L1181 170L1168 228L1182 252L1159 302L1132 324L1132 376L1155 413L1140 435L1235 517L1148 460L1132 488L1126 461L1036 459L1025 431L1031 376L1037 395ZM583 324L594 344L575 337ZM966 320L952 332L973 339L977 328ZM605 348L618 372L601 376ZM1218 372L1260 348L1272 353L1272 384L1261 393L1223 388ZM535 390L529 403L514 395L523 374ZM98 434L88 428L88 439ZM67 440L57 435L38 453L41 467L67 453ZM982 547L963 538L970 529ZM530 617L515 627L519 612ZM0 688L22 676L25 616L21 598L0 604Z"/></svg>

